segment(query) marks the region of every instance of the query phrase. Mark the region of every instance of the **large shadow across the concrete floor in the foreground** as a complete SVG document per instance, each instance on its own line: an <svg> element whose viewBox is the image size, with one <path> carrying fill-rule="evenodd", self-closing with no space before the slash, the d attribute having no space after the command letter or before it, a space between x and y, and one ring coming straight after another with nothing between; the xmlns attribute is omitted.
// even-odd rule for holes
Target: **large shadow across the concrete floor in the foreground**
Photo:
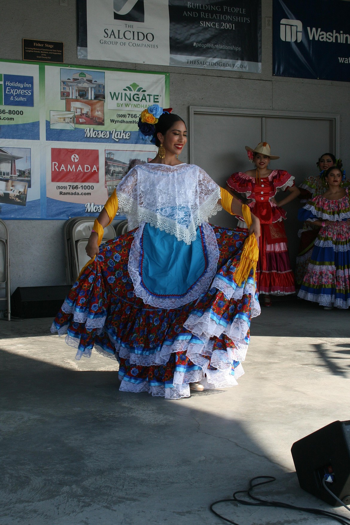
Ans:
<svg viewBox="0 0 350 525"><path fill-rule="evenodd" d="M165 401L119 392L115 372L4 351L0 359L4 525L214 525L209 503L263 474L279 479L274 499L305 497L234 408L222 413L228 392ZM250 515L223 510L231 519Z"/></svg>

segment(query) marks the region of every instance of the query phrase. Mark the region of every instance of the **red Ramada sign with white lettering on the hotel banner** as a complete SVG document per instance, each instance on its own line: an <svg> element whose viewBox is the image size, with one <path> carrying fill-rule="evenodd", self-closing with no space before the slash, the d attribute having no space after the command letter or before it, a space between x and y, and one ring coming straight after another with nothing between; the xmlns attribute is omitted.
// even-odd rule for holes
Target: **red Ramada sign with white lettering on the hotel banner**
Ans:
<svg viewBox="0 0 350 525"><path fill-rule="evenodd" d="M52 182L99 182L99 150L51 148Z"/></svg>

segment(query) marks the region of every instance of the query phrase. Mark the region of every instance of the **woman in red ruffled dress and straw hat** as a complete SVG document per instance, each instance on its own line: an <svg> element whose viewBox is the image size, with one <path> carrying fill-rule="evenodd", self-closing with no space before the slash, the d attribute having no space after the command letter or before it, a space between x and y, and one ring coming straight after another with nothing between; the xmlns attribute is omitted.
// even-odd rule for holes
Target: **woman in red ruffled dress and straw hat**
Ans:
<svg viewBox="0 0 350 525"><path fill-rule="evenodd" d="M270 170L270 160L279 159L271 155L267 142L260 142L256 149L246 146L249 160L256 169L245 173L234 173L227 181L230 191L242 193L261 223L259 260L257 267L257 289L264 294L265 306L271 306L270 293L287 295L295 293L294 276L291 269L287 236L283 220L285 204L299 195L294 186L294 177L287 171ZM289 195L277 203L275 195L279 190L289 190ZM240 224L239 224L240 225ZM242 225L245 227L245 225Z"/></svg>

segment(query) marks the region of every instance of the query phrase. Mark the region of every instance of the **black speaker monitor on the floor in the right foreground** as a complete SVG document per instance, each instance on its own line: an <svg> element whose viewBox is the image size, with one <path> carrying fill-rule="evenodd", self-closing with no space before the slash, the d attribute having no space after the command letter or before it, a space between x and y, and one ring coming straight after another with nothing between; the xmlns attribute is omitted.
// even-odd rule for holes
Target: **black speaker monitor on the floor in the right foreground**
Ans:
<svg viewBox="0 0 350 525"><path fill-rule="evenodd" d="M334 421L293 443L291 448L296 474L302 489L317 498L341 505L322 484L345 505L350 504L350 421Z"/></svg>

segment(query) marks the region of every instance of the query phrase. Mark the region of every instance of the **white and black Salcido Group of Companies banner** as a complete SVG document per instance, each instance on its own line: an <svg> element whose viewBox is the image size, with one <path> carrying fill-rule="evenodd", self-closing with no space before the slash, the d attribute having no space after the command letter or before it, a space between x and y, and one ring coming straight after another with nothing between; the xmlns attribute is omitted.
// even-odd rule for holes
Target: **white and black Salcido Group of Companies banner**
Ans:
<svg viewBox="0 0 350 525"><path fill-rule="evenodd" d="M261 0L77 0L78 58L261 72Z"/></svg>

